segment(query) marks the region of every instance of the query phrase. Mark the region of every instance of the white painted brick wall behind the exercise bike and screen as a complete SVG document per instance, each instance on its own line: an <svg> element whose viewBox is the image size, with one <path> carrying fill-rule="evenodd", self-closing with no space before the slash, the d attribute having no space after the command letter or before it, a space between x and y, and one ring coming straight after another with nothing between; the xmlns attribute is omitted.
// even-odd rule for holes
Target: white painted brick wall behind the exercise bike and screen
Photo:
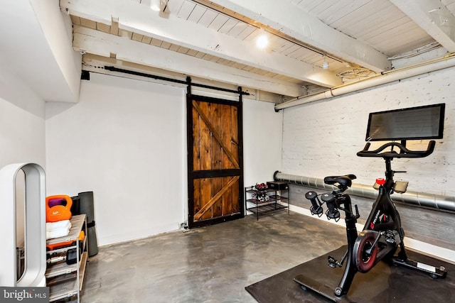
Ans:
<svg viewBox="0 0 455 303"><path fill-rule="evenodd" d="M446 103L444 138L434 153L395 159L392 169L407 170L395 180L409 181L408 190L455 196L454 76L451 68L284 109L282 172L319 178L350 173L359 184L373 184L384 177L384 160L356 155L365 145L368 114ZM372 143L372 148L378 145ZM426 147L427 141L408 143L411 149Z"/></svg>

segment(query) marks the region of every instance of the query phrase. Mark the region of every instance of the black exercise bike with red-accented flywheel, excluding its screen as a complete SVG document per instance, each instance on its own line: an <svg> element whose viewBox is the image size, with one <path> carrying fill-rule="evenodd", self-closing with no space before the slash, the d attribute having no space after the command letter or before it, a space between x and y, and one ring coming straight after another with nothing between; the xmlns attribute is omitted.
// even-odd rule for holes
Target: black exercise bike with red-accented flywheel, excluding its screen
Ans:
<svg viewBox="0 0 455 303"><path fill-rule="evenodd" d="M395 182L393 180L395 173L405 171L392 170L391 161L394 158L427 157L433 152L434 145L434 141L429 141L427 150L409 150L406 148L406 141L402 141L402 143L385 143L376 150L369 150L370 143L366 143L365 148L357 153L359 157L378 157L385 160L385 179L380 178L375 182L374 187L379 190L379 194L368 215L363 231L360 233L355 227L357 219L360 217L358 207L355 205L354 212L349 195L344 193L351 186L355 175L325 177L324 182L326 184L334 185L338 189L323 194L316 194L314 191L305 194L306 199L311 201L310 211L313 215L322 216L324 203L327 206L326 216L329 220L338 221L340 219L340 211L345 213L346 235L348 238L347 251L340 261L330 255L328 256L328 265L331 268L336 268L337 266L341 268L346 261L346 268L341 281L334 290L336 297L342 297L348 293L357 272L368 272L380 260L419 270L433 278L445 277L446 270L443 266L437 268L407 258L405 244L403 243L405 231L401 225L400 214L390 199L390 194L393 192L404 193L407 188L407 182ZM394 150L394 148L398 150ZM395 255L397 248L400 248L400 250ZM294 280L299 282L304 289L308 286L301 282L299 276L294 278ZM328 297L333 299L333 297Z"/></svg>

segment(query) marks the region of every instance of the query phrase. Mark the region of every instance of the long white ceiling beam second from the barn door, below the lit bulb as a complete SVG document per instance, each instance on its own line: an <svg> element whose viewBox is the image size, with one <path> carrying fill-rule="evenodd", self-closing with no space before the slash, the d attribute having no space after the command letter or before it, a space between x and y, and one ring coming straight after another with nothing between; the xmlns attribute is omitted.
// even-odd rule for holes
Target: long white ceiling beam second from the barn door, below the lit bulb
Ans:
<svg viewBox="0 0 455 303"><path fill-rule="evenodd" d="M292 57L257 50L251 42L242 41L210 28L199 26L171 14L168 18L134 1L125 0L63 0L60 6L69 13L110 24L118 20L119 28L164 40L168 43L208 53L226 60L240 62L268 72L285 75L302 82L323 87L342 84L333 72L315 67Z"/></svg>

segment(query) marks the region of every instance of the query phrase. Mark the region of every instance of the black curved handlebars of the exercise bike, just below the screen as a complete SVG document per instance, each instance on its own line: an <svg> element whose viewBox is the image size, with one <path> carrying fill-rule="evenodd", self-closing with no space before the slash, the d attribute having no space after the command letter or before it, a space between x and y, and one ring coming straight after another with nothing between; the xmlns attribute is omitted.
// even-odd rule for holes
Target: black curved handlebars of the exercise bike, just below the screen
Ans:
<svg viewBox="0 0 455 303"><path fill-rule="evenodd" d="M427 155L431 155L434 150L435 142L429 141L427 150L408 150L405 144L397 143L397 142L390 142L381 145L380 148L375 150L368 150L370 148L370 143L366 143L363 150L357 153L359 157L381 157L381 158L424 158ZM384 151L385 148L392 147L390 151ZM397 153L393 150L394 147L400 149L400 152Z"/></svg>

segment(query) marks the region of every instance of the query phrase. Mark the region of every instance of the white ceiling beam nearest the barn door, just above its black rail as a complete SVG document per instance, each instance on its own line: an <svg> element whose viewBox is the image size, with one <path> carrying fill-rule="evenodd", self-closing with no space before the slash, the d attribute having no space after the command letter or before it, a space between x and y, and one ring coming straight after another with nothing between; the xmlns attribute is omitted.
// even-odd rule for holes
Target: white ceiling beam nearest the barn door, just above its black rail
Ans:
<svg viewBox="0 0 455 303"><path fill-rule="evenodd" d="M103 57L115 54L118 60L134 62L139 65L156 67L184 75L213 79L237 86L252 87L264 92L273 92L285 96L298 97L306 94L305 90L298 84L171 52L127 37L110 35L81 26L74 27L73 35L73 48L81 52Z"/></svg>

